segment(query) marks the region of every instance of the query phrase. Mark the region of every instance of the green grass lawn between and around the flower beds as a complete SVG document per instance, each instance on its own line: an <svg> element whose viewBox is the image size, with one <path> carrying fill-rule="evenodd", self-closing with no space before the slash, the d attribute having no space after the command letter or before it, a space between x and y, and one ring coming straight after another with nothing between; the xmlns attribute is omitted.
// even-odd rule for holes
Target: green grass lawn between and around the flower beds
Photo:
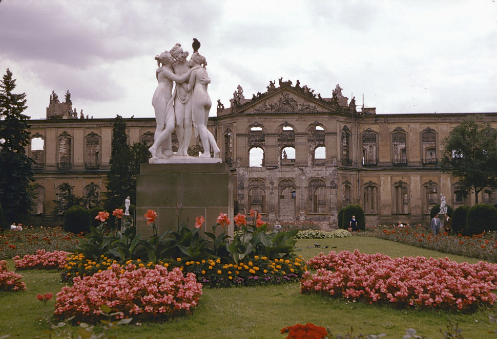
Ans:
<svg viewBox="0 0 497 339"><path fill-rule="evenodd" d="M329 248L315 248L314 244ZM433 256L449 257L456 261L476 262L460 256L445 255L422 248L412 247L387 240L352 237L339 239L301 239L297 245L303 248L302 256L311 258L319 252L353 251L364 253L381 252L389 256ZM307 247L313 248L307 248ZM332 248L337 246L337 248ZM25 277L27 290L15 293L0 293L2 316L0 336L32 338L41 334L47 325L39 323L44 316L43 304L36 300L37 293L57 292L63 286L56 270L27 270L20 272ZM50 305L53 305L50 304ZM301 295L298 283L265 287L239 287L203 290L200 306L189 317L163 324L127 325L119 329L118 337L126 339L150 338L284 338L281 328L296 323L312 322L329 326L334 336L345 334L354 326L354 332L365 334L386 333L385 338L401 338L405 330L413 327L426 338L443 338L439 329L448 321L458 322L468 338L484 338L494 335L489 331L497 324L488 320L495 310L482 309L465 315L444 311L417 311L394 309L387 306L347 303L327 296ZM41 335L47 337L48 335Z"/></svg>

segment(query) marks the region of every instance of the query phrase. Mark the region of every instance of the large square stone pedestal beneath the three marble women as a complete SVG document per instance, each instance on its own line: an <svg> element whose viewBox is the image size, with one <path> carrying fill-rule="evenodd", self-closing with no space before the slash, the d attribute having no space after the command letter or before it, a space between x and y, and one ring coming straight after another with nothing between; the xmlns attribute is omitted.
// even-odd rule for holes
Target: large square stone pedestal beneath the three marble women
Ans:
<svg viewBox="0 0 497 339"><path fill-rule="evenodd" d="M177 229L178 213L179 222L187 222L189 228L203 215L202 230L211 231L220 212L229 216L232 224L226 231L233 234L233 181L230 167L224 163L141 164L136 197L137 233L142 238L152 234L143 216L149 209L157 212L159 234Z"/></svg>

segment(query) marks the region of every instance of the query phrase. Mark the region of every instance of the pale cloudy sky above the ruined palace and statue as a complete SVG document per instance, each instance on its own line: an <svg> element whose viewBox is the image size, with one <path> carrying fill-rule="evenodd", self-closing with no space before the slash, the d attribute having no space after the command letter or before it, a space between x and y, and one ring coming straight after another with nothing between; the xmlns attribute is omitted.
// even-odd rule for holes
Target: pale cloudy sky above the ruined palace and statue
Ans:
<svg viewBox="0 0 497 339"><path fill-rule="evenodd" d="M3 0L0 72L32 119L67 89L94 118L153 117L155 55L194 37L226 107L283 77L378 114L497 112L494 0Z"/></svg>

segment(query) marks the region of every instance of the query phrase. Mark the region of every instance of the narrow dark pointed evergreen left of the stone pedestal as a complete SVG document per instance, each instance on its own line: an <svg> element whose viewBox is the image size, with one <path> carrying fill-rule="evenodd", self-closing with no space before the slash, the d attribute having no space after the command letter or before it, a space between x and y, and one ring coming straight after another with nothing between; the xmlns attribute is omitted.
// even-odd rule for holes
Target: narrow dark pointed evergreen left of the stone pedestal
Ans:
<svg viewBox="0 0 497 339"><path fill-rule="evenodd" d="M120 206L126 197L135 198L136 183L130 168L131 152L126 135L126 122L116 116L112 129L110 170L107 172L106 208L111 211Z"/></svg>

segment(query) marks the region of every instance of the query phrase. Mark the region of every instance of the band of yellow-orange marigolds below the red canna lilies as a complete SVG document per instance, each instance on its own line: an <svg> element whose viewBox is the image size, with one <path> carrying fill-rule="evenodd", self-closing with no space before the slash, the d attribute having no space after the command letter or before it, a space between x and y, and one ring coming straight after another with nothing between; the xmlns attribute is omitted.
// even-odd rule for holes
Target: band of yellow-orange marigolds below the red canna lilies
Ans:
<svg viewBox="0 0 497 339"><path fill-rule="evenodd" d="M195 274L197 280L208 287L254 286L299 281L307 269L302 257L272 260L255 256L254 259L243 260L238 264L222 263L220 259L194 261L177 258L161 260L157 264L136 259L128 260L120 265L117 260L103 256L99 260L91 260L83 255L74 254L69 257L61 277L70 281L74 277L91 276L103 272L112 265L124 267L130 264L137 268L164 266L172 269L179 267L183 274Z"/></svg>

